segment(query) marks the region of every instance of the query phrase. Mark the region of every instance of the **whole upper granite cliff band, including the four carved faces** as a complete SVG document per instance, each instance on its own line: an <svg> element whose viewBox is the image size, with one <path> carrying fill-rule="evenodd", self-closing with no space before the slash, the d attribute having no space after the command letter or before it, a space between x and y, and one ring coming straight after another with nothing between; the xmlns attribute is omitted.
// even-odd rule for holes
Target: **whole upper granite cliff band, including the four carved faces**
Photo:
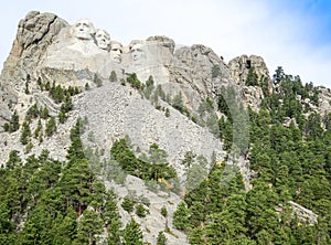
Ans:
<svg viewBox="0 0 331 245"><path fill-rule="evenodd" d="M247 58L258 75L269 78L261 57ZM154 86L162 85L164 93L172 96L180 92L188 109L196 110L201 98L215 98L222 86L244 85L248 68L239 63L241 60L234 58L226 64L211 47L177 45L164 35L134 40L124 45L113 39L111 32L97 29L88 19L70 24L53 13L31 11L19 23L1 72L3 84L10 84L7 87L11 89L6 92L3 100L6 105L17 103L28 73L34 77L72 74L70 79L57 77L56 83L84 88L86 83L94 86L93 74L108 79L115 71L118 81L136 73L145 83L152 75ZM252 104L258 106L258 103Z"/></svg>

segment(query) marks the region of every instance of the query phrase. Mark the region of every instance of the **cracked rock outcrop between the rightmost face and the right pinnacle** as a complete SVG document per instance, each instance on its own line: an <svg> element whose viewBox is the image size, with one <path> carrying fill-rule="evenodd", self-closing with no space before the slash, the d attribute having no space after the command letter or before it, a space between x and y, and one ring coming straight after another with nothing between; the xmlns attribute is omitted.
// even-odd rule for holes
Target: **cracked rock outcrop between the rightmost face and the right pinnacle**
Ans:
<svg viewBox="0 0 331 245"><path fill-rule="evenodd" d="M182 86L192 110L199 108L201 98L214 99L222 86L233 85L228 68L212 49L195 44L177 50L174 55L178 63L170 67L170 81Z"/></svg>

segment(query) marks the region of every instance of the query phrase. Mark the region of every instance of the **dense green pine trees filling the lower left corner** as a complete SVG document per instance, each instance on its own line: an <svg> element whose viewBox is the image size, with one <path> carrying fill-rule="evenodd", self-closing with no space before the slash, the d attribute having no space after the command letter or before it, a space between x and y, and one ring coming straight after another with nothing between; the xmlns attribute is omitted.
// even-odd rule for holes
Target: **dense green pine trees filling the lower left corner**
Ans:
<svg viewBox="0 0 331 245"><path fill-rule="evenodd" d="M10 152L0 169L1 244L94 244L104 227L109 244L122 239L116 196L90 171L79 124L71 130L66 162L51 159L46 150L24 162L19 151Z"/></svg>

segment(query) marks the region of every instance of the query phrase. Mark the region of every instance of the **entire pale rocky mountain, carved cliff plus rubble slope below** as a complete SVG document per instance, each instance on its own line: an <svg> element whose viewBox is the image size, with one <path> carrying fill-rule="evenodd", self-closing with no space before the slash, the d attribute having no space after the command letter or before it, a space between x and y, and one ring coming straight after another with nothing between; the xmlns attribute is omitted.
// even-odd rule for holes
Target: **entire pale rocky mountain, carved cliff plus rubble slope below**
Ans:
<svg viewBox="0 0 331 245"><path fill-rule="evenodd" d="M172 39L156 35L122 45L111 40L110 34L96 29L87 19L81 19L71 25L52 13L32 11L20 21L17 38L0 77L0 162L7 161L11 149L19 149L21 156L26 157L20 143L20 131L8 134L2 130L3 124L10 120L13 111L17 111L21 122L34 104L39 108L46 107L50 116L58 116L61 105L41 88L40 82L54 84L54 87L74 87L81 93L72 96L73 110L68 113L66 121L60 124L56 119L58 127L54 136L45 137L42 142L31 139L34 147L30 153L39 155L42 149L49 149L50 157L64 160L71 143L70 129L81 117L87 121L82 134L85 147L104 150L107 159L115 140L126 136L142 152L157 143L167 151L168 161L175 168L181 181L185 181L185 170L181 161L188 151L205 157L209 162L226 160L223 142L210 128L199 124L200 118L195 118L201 113L203 102L211 102L215 125L218 127L217 119L222 114L216 110L222 90L234 88L237 93L234 104L246 103L245 106L259 109L264 97L261 87L245 86L250 68L256 73L259 83L267 81L268 93L273 93L268 68L259 56L242 55L225 64L212 49L202 44L178 47ZM132 74L137 75L139 85L130 86L128 83L128 77ZM159 89L162 95L143 94L150 76L153 78L153 92ZM320 90L320 106L317 110L327 114L331 110L331 95L327 88ZM178 96L182 104L180 109L173 105ZM229 108L232 106L237 105L228 105ZM246 122L249 122L248 119ZM46 122L42 124L45 127ZM36 121L32 120L31 129L35 128ZM89 140L92 135L95 140ZM231 159L228 164L239 167L245 187L249 190L253 174L249 172L248 158L239 156L238 159ZM128 177L126 188L147 193L140 187L141 182ZM108 188L115 187L120 198L124 198L124 187L107 184ZM161 224L157 222L158 225L154 225L152 217L160 216L159 203L170 202L171 198L171 202L178 204L180 196L149 196L154 200L154 205L150 207L151 215L140 223L146 227L143 231L147 242L154 244L154 236ZM295 212L306 219L309 212L295 203L292 205ZM174 206L169 209L173 211ZM129 216L124 214L122 219L125 223ZM316 219L311 214L306 220L312 224ZM151 230L150 234L148 230ZM175 234L178 237L169 238L171 244L186 243L184 234L179 231Z"/></svg>

